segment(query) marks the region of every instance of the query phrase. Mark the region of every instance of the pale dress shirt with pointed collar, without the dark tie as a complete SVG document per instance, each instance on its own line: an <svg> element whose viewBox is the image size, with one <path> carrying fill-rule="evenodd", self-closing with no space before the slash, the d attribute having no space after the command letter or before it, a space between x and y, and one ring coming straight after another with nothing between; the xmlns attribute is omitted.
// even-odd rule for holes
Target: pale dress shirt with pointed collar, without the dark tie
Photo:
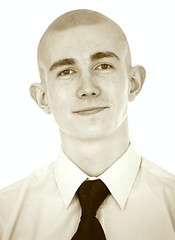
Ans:
<svg viewBox="0 0 175 240"><path fill-rule="evenodd" d="M70 240L81 216L75 193L88 178L60 151L56 162L1 190L0 240ZM175 176L131 144L98 178L111 192L97 211L107 240L175 240Z"/></svg>

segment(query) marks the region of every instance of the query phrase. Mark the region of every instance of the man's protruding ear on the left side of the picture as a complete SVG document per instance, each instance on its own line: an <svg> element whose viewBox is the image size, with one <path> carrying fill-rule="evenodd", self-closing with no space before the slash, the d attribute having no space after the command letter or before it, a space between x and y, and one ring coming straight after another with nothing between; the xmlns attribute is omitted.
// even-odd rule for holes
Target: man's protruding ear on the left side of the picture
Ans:
<svg viewBox="0 0 175 240"><path fill-rule="evenodd" d="M48 98L46 96L42 83L33 83L30 87L30 94L38 106L43 109L45 113L51 113Z"/></svg>

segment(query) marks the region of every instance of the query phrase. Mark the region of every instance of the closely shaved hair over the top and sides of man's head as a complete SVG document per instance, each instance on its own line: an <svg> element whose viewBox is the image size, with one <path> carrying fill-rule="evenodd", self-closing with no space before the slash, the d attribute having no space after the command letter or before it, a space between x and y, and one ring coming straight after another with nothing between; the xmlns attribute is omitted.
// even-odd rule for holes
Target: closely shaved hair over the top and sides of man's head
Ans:
<svg viewBox="0 0 175 240"><path fill-rule="evenodd" d="M127 66L130 67L131 56L130 56L128 42L125 34L123 33L119 25L101 13L98 13L92 10L79 9L79 10L67 12L59 16L50 24L50 26L47 28L47 30L44 32L43 36L41 37L41 40L38 45L38 54L37 54L41 80L43 78L42 62L44 61L43 59L47 58L46 49L49 45L50 34L53 34L54 32L61 33L65 30L74 29L79 26L91 26L91 25L98 25L98 24L108 24L114 28L114 31L116 31L116 34L118 35L119 41L122 42L121 48L122 48L123 54L125 55L125 62ZM104 29L104 31L105 30L106 29ZM74 36L72 36L72 38L74 38ZM94 39L94 41L96 40Z"/></svg>

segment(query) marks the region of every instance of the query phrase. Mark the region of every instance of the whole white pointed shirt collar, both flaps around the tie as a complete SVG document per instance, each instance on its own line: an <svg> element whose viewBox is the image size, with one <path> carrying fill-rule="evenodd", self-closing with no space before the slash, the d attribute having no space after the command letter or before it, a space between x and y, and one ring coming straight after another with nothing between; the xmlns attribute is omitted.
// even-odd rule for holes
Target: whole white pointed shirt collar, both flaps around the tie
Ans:
<svg viewBox="0 0 175 240"><path fill-rule="evenodd" d="M141 157L130 144L127 151L98 177L106 184L121 209L126 205L140 161ZM62 150L55 162L54 174L60 194L68 208L79 186L90 177L82 172Z"/></svg>

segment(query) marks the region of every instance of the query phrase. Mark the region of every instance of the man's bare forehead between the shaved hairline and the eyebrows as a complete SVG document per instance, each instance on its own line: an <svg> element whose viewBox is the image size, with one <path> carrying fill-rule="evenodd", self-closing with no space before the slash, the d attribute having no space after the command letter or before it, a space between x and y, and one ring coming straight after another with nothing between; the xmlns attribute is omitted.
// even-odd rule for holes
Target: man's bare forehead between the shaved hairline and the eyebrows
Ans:
<svg viewBox="0 0 175 240"><path fill-rule="evenodd" d="M40 58L48 64L61 58L88 58L95 52L115 52L120 58L125 41L115 26L108 23L80 25L62 31L52 30L45 37Z"/></svg>

